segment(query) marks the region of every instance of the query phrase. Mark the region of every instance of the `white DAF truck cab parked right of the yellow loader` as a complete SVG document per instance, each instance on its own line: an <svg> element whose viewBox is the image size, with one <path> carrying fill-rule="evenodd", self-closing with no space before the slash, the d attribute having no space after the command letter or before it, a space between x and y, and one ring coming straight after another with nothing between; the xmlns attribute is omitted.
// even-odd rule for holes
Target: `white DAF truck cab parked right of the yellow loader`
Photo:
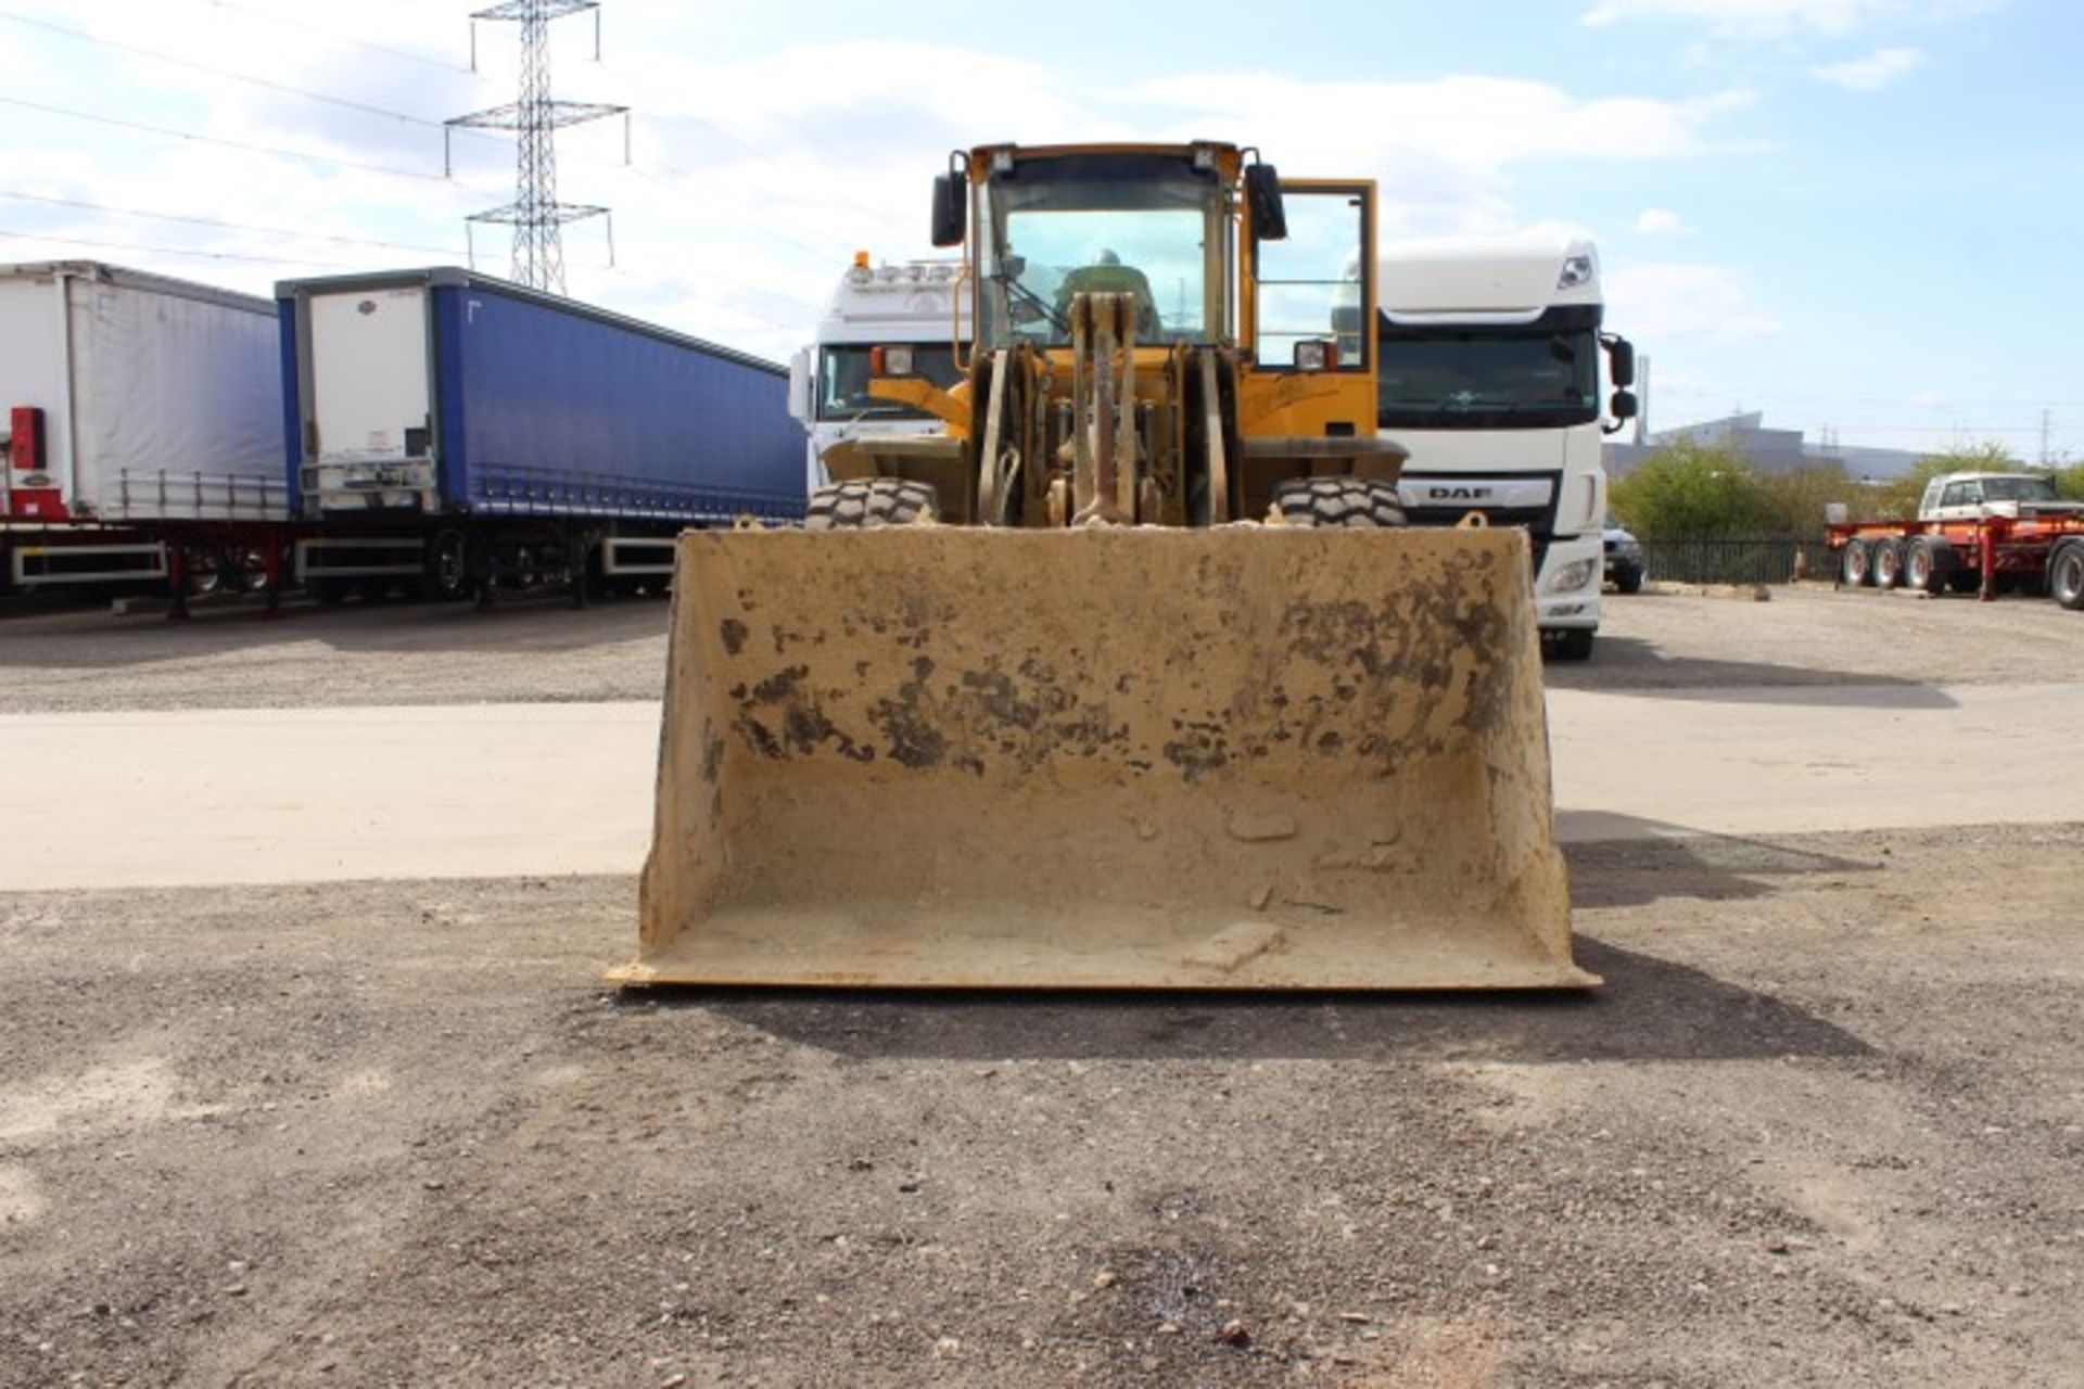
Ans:
<svg viewBox="0 0 2084 1389"><path fill-rule="evenodd" d="M1423 242L1382 256L1378 427L1411 450L1411 525L1482 512L1534 539L1544 646L1592 654L1605 571L1601 437L1636 414L1590 242ZM1613 394L1605 396L1601 367Z"/></svg>

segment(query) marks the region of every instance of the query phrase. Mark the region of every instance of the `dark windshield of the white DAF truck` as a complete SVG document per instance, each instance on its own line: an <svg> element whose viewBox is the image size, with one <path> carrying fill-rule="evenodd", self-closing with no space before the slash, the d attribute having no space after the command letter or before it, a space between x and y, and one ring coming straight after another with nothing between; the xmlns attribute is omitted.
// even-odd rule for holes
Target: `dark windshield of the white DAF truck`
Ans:
<svg viewBox="0 0 2084 1389"><path fill-rule="evenodd" d="M1598 419L1590 329L1400 329L1384 325L1384 429L1555 429Z"/></svg>

